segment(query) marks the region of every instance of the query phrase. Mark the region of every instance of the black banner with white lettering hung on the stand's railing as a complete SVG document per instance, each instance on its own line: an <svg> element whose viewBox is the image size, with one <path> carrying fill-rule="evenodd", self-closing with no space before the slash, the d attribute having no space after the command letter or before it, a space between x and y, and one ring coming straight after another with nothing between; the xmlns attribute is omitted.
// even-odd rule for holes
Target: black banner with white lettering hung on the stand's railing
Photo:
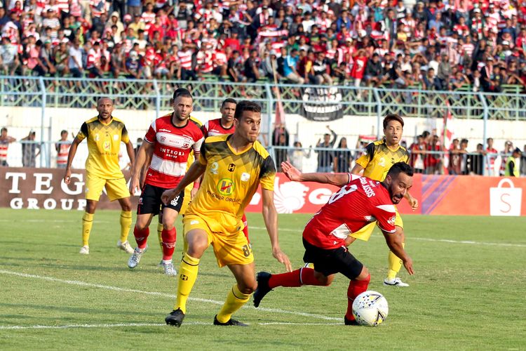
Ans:
<svg viewBox="0 0 526 351"><path fill-rule="evenodd" d="M311 121L332 121L344 117L342 92L333 86L304 88L302 116Z"/></svg>

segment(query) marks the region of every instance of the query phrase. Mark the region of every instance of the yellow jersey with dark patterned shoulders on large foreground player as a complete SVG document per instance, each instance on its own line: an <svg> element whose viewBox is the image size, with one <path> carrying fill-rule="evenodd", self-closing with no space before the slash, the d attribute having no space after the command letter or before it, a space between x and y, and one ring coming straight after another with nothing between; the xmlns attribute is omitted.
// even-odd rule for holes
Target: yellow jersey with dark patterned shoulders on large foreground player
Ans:
<svg viewBox="0 0 526 351"><path fill-rule="evenodd" d="M232 233L243 229L241 217L257 186L274 191L276 168L267 150L255 141L248 150L235 152L230 138L225 134L205 139L198 161L206 170L186 213L203 218L213 232L220 227Z"/></svg>

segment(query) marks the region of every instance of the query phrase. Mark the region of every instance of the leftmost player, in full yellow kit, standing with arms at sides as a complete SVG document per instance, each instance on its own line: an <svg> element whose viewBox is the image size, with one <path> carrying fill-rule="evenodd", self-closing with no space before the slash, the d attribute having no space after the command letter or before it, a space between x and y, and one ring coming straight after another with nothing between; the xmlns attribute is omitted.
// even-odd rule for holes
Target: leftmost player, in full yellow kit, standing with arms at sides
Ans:
<svg viewBox="0 0 526 351"><path fill-rule="evenodd" d="M119 166L121 142L126 144L126 152L128 152L131 164L135 161L135 153L126 126L122 121L112 116L113 110L112 99L100 98L97 101L98 116L88 119L82 124L81 130L73 140L67 155L64 182L69 184L76 149L82 140L88 139L86 212L82 217L82 248L80 251L84 255L90 253L89 239L93 225L93 214L103 187L106 187L110 201L119 200L122 208L121 238L117 242L117 247L127 253L133 253L133 248L128 243L128 233L132 223L130 192Z"/></svg>

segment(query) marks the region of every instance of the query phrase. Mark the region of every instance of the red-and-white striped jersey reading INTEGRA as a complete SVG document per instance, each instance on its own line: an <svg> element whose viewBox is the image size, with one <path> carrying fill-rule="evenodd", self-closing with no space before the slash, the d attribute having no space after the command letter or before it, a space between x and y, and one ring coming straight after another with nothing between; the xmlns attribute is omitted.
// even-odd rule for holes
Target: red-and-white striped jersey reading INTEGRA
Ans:
<svg viewBox="0 0 526 351"><path fill-rule="evenodd" d="M198 157L203 140L203 132L191 119L182 127L173 125L171 113L156 119L144 135L144 141L154 144L144 183L166 189L176 187L187 172L190 151Z"/></svg>

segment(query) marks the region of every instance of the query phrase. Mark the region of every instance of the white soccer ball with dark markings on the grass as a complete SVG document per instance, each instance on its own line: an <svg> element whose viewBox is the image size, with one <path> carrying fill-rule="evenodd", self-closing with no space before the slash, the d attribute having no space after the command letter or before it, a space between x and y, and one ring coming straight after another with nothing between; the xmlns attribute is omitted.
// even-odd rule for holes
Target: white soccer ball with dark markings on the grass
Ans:
<svg viewBox="0 0 526 351"><path fill-rule="evenodd" d="M387 300L377 291L365 291L353 301L353 315L361 326L377 326L389 313Z"/></svg>

